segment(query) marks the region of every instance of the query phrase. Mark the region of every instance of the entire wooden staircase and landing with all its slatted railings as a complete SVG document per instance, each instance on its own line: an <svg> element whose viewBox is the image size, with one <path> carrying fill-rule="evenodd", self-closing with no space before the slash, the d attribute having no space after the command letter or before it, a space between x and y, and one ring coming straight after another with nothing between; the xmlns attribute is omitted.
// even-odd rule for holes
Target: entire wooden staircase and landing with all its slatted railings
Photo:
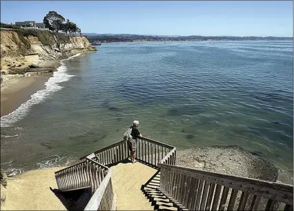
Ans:
<svg viewBox="0 0 294 211"><path fill-rule="evenodd" d="M293 210L293 185L175 165L172 145L137 141L137 163L126 141L81 157L55 172L61 192L90 187L84 210Z"/></svg>

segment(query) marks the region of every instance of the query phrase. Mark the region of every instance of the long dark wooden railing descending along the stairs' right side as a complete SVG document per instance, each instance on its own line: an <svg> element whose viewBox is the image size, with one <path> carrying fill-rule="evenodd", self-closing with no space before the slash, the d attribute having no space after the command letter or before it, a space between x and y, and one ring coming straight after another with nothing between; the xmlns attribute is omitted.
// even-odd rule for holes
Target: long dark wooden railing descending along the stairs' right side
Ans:
<svg viewBox="0 0 294 211"><path fill-rule="evenodd" d="M293 210L293 185L162 163L158 166L159 190L183 210Z"/></svg>

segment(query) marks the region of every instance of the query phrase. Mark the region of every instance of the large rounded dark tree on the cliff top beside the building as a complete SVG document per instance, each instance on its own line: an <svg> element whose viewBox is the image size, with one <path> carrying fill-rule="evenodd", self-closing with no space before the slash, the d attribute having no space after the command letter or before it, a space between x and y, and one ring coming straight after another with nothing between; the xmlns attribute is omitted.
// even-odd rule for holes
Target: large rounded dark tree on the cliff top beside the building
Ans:
<svg viewBox="0 0 294 211"><path fill-rule="evenodd" d="M63 23L66 19L61 14L55 11L49 11L48 14L43 18L45 27L52 31L63 30Z"/></svg>

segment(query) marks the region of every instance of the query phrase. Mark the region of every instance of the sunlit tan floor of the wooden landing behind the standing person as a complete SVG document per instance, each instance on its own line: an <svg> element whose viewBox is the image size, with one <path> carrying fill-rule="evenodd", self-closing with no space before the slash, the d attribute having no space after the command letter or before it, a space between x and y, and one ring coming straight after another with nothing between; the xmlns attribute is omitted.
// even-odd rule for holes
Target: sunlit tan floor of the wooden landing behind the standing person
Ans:
<svg viewBox="0 0 294 211"><path fill-rule="evenodd" d="M154 210L141 191L141 185L157 170L139 162L119 163L112 169L112 188L117 197L117 210Z"/></svg>

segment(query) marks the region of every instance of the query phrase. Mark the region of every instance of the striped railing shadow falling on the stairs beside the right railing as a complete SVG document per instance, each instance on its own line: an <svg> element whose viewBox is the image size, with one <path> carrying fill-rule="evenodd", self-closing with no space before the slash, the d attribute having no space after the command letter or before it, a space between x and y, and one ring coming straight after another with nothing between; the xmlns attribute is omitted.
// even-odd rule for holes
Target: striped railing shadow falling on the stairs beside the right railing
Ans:
<svg viewBox="0 0 294 211"><path fill-rule="evenodd" d="M144 185L141 186L141 191L154 206L154 210L178 210L175 205L170 202L164 194L157 188L160 186L160 171L158 170Z"/></svg>

